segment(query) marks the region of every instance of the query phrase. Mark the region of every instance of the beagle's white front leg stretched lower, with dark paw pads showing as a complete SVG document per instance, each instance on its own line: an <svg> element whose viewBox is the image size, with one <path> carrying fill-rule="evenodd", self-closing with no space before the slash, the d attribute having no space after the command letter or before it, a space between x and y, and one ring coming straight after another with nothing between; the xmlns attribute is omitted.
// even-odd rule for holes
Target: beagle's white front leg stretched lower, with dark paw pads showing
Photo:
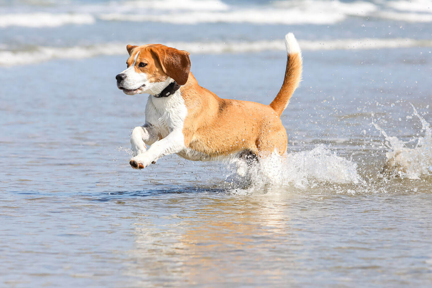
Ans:
<svg viewBox="0 0 432 288"><path fill-rule="evenodd" d="M133 157L129 163L135 169L142 169L151 163L156 163L160 157L180 152L184 148L183 132L174 130L165 138L153 143L148 150Z"/></svg>

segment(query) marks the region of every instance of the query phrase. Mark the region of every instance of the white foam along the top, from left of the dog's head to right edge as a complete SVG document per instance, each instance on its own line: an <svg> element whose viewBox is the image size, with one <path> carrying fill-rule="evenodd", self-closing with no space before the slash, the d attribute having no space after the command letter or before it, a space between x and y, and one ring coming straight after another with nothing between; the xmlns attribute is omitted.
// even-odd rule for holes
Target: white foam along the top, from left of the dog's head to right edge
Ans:
<svg viewBox="0 0 432 288"><path fill-rule="evenodd" d="M170 1L170 0L166 0ZM249 6L240 8L221 5L210 5L206 11L199 11L200 5L184 5L183 11L172 10L171 13L137 13L136 11L116 10L116 13L100 13L99 18L106 21L132 22L166 22L173 24L197 23L254 23L254 24L334 24L348 16L375 17L404 22L432 22L432 10L429 0L391 1L378 6L371 2L355 1L351 3L326 0L289 0L276 1L270 5ZM156 7L156 6L155 6ZM400 10L396 12L389 10ZM430 13L414 13L430 12Z"/></svg>

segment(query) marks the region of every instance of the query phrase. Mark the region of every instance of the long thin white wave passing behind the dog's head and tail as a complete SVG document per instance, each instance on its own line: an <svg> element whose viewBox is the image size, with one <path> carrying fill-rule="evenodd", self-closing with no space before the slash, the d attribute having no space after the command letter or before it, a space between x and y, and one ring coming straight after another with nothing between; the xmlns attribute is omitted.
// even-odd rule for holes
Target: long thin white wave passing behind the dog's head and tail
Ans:
<svg viewBox="0 0 432 288"><path fill-rule="evenodd" d="M99 45L82 45L74 47L38 46L29 50L0 51L0 65L13 66L33 64L52 59L82 59L99 55L126 54L127 43L102 43ZM260 51L284 51L283 40L275 41L242 41L242 42L164 42L165 45L186 50L192 54L253 53ZM432 47L432 40L410 38L392 39L339 39L339 40L300 40L304 51L317 50L365 50L380 48Z"/></svg>

